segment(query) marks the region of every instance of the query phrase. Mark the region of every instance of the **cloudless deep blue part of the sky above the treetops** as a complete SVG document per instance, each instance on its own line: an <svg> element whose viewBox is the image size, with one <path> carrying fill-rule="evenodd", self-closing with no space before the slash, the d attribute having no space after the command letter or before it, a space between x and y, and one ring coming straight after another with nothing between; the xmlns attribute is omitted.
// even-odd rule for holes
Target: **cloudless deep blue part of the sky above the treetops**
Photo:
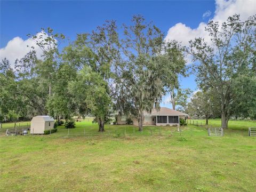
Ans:
<svg viewBox="0 0 256 192"><path fill-rule="evenodd" d="M207 10L214 12L214 1L1 1L1 48L12 38L25 39L41 27L74 39L107 19L119 25L129 23L133 14L144 15L166 34L178 22L197 27Z"/></svg>

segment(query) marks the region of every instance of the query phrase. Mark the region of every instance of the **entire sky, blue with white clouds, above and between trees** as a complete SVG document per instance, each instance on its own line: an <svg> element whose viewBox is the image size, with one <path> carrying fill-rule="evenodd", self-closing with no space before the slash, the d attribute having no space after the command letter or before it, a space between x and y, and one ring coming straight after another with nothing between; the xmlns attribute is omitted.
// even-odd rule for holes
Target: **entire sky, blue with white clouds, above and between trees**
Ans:
<svg viewBox="0 0 256 192"><path fill-rule="evenodd" d="M202 34L202 28L209 19L219 20L230 12L241 11L241 14L245 15L247 12L255 12L253 11L255 3L247 3L248 5L242 3L236 0L231 2L1 1L1 58L13 59L19 53L22 54L26 35L36 34L41 31L41 27L51 27L54 31L65 34L70 41L74 41L76 34L90 32L102 25L105 20L114 19L119 26L122 23L129 25L133 14L142 14L147 21L153 21L165 33L166 38L186 42L188 40L186 38ZM179 25L176 25L177 23ZM12 42L12 46L11 43L7 46L9 42ZM184 88L197 90L194 75L187 78L180 77L180 82ZM171 106L166 103L168 97L167 95L163 98L162 106Z"/></svg>

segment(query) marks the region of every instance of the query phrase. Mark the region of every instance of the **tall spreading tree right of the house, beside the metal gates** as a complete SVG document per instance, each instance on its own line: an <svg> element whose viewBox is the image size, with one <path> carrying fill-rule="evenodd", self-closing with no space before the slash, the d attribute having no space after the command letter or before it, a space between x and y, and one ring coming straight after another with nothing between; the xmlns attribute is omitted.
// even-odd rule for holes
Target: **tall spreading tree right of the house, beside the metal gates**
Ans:
<svg viewBox="0 0 256 192"><path fill-rule="evenodd" d="M233 89L236 79L255 68L255 25L256 15L243 22L235 14L223 23L209 22L205 28L211 37L209 43L203 38L190 41L189 52L199 61L195 65L196 81L203 90L211 88L220 97L222 128L227 128L233 115L231 104L237 98ZM248 75L255 78L255 73ZM255 94L255 90L246 94Z"/></svg>

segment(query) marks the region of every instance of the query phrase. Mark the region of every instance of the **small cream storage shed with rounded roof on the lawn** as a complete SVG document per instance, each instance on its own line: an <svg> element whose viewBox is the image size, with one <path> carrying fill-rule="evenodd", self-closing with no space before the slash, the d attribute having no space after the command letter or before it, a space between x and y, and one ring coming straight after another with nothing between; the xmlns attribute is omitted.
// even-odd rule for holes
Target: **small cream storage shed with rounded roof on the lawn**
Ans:
<svg viewBox="0 0 256 192"><path fill-rule="evenodd" d="M44 134L44 130L50 130L54 127L54 119L50 116L35 116L31 120L30 133Z"/></svg>

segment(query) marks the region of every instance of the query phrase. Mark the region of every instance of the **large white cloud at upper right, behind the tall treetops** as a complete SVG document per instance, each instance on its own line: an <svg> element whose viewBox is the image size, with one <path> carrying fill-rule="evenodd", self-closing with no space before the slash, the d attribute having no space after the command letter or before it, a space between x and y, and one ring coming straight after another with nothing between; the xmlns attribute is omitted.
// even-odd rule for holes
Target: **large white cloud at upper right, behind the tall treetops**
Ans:
<svg viewBox="0 0 256 192"><path fill-rule="evenodd" d="M215 7L216 9L212 20L219 22L226 21L229 16L235 13L240 14L242 20L245 20L256 13L256 1L253 0L215 1ZM177 23L168 30L165 41L176 39L177 41L181 42L182 45L188 45L190 39L194 39L195 37L203 37L205 38L206 42L209 42L210 37L204 30L206 24L207 23L205 22L201 22L197 28L192 29L183 23Z"/></svg>

